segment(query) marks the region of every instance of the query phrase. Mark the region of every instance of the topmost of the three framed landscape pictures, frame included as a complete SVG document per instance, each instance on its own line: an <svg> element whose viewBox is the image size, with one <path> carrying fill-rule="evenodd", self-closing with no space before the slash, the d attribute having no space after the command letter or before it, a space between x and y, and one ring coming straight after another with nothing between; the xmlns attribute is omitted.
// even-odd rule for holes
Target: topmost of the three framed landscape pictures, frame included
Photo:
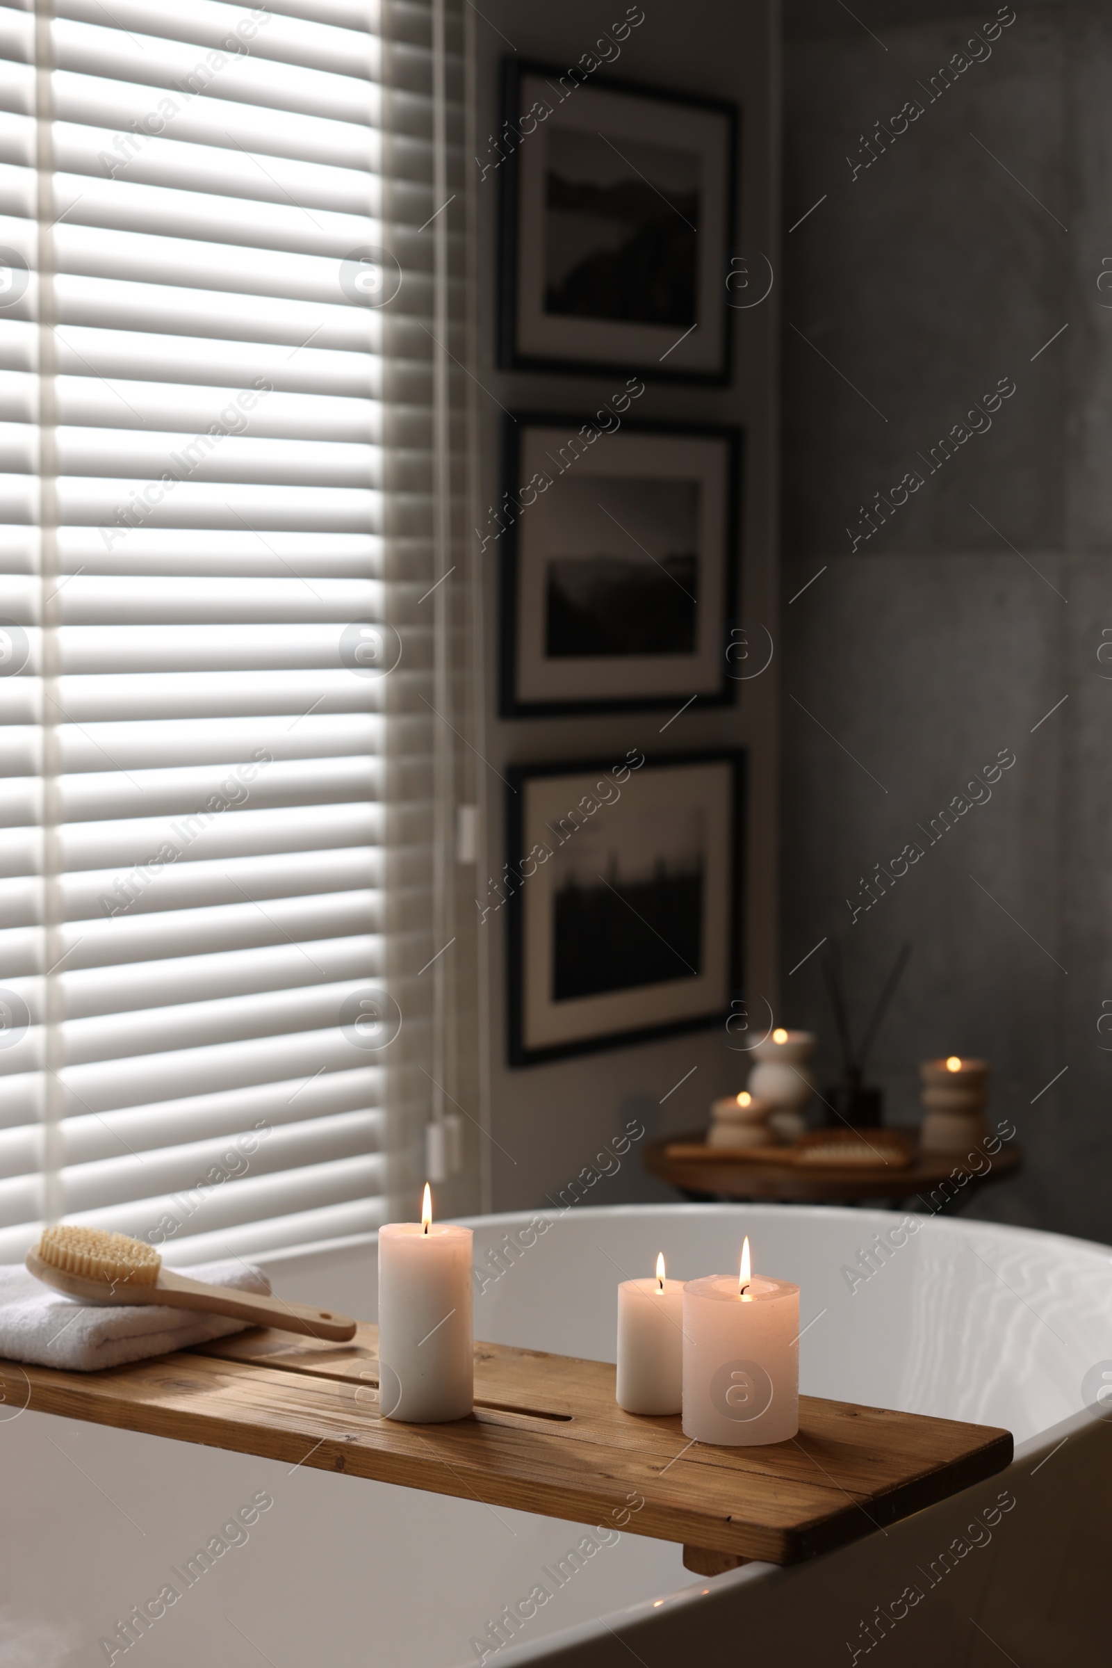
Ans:
<svg viewBox="0 0 1112 1668"><path fill-rule="evenodd" d="M727 382L737 107L503 60L503 365Z"/></svg>

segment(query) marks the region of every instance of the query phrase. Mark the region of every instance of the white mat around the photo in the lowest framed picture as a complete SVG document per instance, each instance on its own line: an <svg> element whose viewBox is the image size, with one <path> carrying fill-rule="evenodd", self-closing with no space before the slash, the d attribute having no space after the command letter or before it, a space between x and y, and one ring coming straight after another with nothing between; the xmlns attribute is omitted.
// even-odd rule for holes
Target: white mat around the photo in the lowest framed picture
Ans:
<svg viewBox="0 0 1112 1668"><path fill-rule="evenodd" d="M542 776L522 784L522 852L535 844L555 847L552 829L575 809L584 794L602 782L602 792L619 786L604 772ZM697 977L640 984L629 991L605 991L572 1001L552 1001L553 972L553 887L552 862L540 864L522 886L522 1046L559 1048L620 1031L667 1026L684 1019L724 1012L730 1001L730 932L734 841L734 767L727 761L644 767L620 784L622 797L604 804L592 826L614 829L620 847L622 816L652 816L670 811L677 799L704 809L707 846L702 889L702 969ZM610 819L610 821L607 821ZM552 824L548 829L545 824ZM572 834L570 839L577 836Z"/></svg>

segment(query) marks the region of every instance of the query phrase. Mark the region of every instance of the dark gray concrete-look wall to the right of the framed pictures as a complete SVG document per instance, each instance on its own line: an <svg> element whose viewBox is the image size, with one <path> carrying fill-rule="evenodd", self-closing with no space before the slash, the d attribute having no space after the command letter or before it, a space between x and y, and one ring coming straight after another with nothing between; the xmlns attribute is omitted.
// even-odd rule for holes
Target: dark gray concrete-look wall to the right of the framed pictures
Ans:
<svg viewBox="0 0 1112 1668"><path fill-rule="evenodd" d="M797 0L785 53L784 966L840 936L864 1002L914 939L875 1056L890 1118L917 1114L917 1061L985 1056L1027 1168L977 1214L1112 1241L1112 8L1020 7L934 102L995 5L854 10ZM854 175L909 98L922 115ZM999 379L992 427L932 474ZM930 846L919 826L999 749L992 799ZM785 1012L830 1037L815 961Z"/></svg>

